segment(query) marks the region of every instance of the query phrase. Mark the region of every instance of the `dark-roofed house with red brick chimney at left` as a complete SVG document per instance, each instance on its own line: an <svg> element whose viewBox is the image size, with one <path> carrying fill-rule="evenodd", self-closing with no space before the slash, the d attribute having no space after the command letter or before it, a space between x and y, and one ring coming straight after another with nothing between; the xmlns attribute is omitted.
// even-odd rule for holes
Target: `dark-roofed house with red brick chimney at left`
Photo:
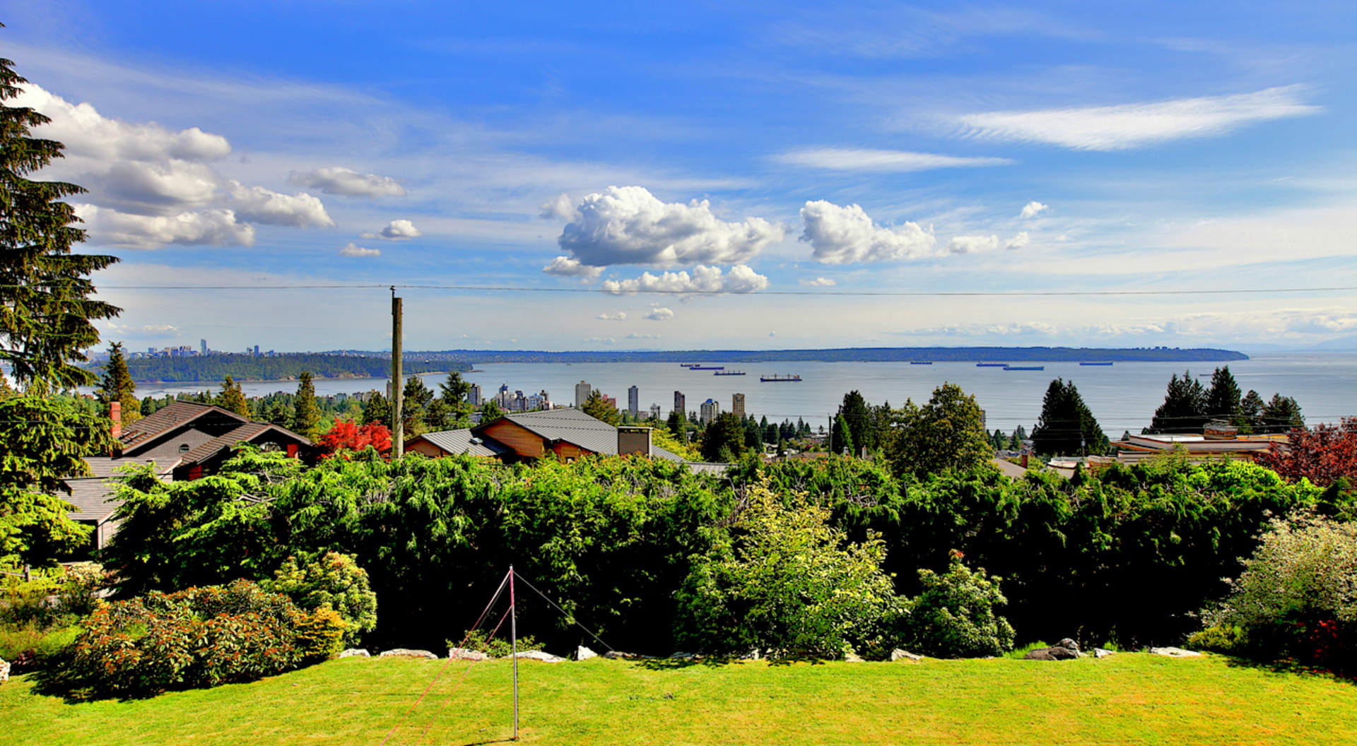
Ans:
<svg viewBox="0 0 1357 746"><path fill-rule="evenodd" d="M94 475L65 480L71 487L66 500L76 507L68 515L95 529L94 549L102 549L118 529L113 513L119 503L113 496L121 467L153 464L163 482L185 482L216 473L239 442L284 450L290 457L308 454L313 448L309 439L286 427L252 422L212 404L175 401L126 429L118 426L122 414L118 403L110 408L119 450L87 457Z"/></svg>

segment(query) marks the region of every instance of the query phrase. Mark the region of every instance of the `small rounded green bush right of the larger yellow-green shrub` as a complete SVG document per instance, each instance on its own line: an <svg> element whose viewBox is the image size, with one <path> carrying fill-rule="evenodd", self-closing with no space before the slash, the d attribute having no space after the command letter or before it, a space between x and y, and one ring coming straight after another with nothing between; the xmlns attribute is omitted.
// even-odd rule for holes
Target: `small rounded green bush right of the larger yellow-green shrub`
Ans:
<svg viewBox="0 0 1357 746"><path fill-rule="evenodd" d="M1007 604L999 578L972 571L953 552L951 567L938 575L919 571L923 593L911 602L905 640L912 650L935 658L999 655L1014 647L1014 628L995 608Z"/></svg>

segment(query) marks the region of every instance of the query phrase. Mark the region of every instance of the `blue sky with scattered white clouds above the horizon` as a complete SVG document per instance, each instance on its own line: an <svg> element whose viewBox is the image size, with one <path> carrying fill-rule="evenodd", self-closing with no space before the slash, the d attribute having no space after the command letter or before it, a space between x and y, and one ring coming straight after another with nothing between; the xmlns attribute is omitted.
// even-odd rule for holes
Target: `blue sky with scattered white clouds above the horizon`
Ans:
<svg viewBox="0 0 1357 746"><path fill-rule="evenodd" d="M0 1L130 347L1314 345L1342 3ZM668 294L638 290L662 289ZM788 290L816 294L779 294ZM719 292L703 294L697 292Z"/></svg>

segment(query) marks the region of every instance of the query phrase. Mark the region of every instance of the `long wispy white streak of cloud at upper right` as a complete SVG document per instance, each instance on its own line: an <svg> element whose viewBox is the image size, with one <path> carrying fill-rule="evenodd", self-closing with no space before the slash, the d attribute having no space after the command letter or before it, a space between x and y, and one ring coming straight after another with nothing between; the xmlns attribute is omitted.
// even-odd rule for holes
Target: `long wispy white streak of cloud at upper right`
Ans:
<svg viewBox="0 0 1357 746"><path fill-rule="evenodd" d="M1243 125L1318 114L1300 85L1253 94L1164 102L989 111L965 114L955 123L966 137L1010 142L1046 142L1075 151L1124 151L1185 137L1224 134Z"/></svg>

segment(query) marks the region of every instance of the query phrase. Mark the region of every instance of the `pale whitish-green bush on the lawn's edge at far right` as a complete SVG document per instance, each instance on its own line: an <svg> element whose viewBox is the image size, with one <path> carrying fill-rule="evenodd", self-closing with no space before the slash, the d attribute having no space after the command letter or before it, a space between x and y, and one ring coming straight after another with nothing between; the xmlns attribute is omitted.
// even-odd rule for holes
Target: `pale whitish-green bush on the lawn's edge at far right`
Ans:
<svg viewBox="0 0 1357 746"><path fill-rule="evenodd" d="M1202 619L1206 643L1209 629L1236 627L1253 656L1357 670L1346 644L1357 633L1357 525L1312 514L1272 521L1229 597Z"/></svg>

